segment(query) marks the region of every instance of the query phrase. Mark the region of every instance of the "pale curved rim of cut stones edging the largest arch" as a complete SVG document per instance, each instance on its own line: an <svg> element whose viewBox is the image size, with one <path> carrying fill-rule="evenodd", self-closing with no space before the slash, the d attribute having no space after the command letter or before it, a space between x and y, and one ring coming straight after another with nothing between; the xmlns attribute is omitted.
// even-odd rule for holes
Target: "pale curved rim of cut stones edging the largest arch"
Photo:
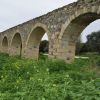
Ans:
<svg viewBox="0 0 100 100"><path fill-rule="evenodd" d="M77 9L72 15L69 16L69 18L65 21L65 24L62 25L61 32L60 32L60 35L59 35L59 39L62 38L64 32L66 31L68 26L70 26L72 21L74 21L75 19L78 19L79 16L89 14L89 13L94 14L94 15L95 14L99 15L100 14L100 7L99 6L90 6L89 8L88 7L83 7L83 8L80 8L79 10ZM90 23L88 23L88 24L90 24Z"/></svg>

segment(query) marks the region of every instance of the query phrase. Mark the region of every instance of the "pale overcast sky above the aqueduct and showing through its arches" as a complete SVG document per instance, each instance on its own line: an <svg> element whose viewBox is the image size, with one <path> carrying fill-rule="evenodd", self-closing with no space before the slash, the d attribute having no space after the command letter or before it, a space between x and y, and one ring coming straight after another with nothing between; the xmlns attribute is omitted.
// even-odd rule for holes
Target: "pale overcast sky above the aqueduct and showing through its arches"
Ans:
<svg viewBox="0 0 100 100"><path fill-rule="evenodd" d="M0 0L0 31L46 14L77 0ZM100 20L91 24L83 35L100 29ZM46 38L46 36L45 36Z"/></svg>

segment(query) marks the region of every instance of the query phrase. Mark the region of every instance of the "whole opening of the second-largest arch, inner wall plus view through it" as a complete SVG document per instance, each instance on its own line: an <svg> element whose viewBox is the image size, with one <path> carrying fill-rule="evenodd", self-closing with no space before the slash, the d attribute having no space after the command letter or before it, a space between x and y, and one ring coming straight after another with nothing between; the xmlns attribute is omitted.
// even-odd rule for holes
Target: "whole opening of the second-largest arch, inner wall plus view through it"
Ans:
<svg viewBox="0 0 100 100"><path fill-rule="evenodd" d="M41 57L39 56L41 53L42 54L45 53L45 52L42 52L43 48L41 47L43 43L42 40L45 40L45 39L47 39L47 33L44 30L44 28L37 27L32 31L32 33L29 36L28 42L27 42L27 48L28 48L27 51L28 51L28 56L30 58L38 59ZM44 41L46 44L48 43L47 40ZM48 50L46 53L48 53Z"/></svg>

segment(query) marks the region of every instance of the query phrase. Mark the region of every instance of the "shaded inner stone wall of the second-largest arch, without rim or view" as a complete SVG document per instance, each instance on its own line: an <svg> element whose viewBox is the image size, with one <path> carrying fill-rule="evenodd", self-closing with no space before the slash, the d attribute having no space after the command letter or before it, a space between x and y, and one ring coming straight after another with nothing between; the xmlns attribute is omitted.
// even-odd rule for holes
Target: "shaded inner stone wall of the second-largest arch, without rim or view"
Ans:
<svg viewBox="0 0 100 100"><path fill-rule="evenodd" d="M36 27L30 34L27 41L27 48L29 57L38 59L39 58L39 46L43 35L46 33L42 27Z"/></svg>

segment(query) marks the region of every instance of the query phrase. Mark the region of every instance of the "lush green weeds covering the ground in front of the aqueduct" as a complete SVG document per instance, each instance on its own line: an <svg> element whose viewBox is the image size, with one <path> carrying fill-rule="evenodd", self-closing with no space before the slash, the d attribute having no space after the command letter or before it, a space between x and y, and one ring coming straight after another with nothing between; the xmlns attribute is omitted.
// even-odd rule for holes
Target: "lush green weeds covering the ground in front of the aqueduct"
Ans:
<svg viewBox="0 0 100 100"><path fill-rule="evenodd" d="M100 56L33 61L0 54L0 100L100 100Z"/></svg>

